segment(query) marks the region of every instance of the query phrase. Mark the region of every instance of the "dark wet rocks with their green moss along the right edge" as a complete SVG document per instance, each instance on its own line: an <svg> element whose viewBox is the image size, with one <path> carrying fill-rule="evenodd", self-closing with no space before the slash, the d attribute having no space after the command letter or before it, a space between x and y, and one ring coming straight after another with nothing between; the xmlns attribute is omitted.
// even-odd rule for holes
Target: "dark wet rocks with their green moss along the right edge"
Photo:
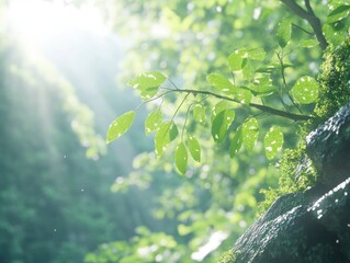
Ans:
<svg viewBox="0 0 350 263"><path fill-rule="evenodd" d="M290 156L300 159L307 153L307 165L300 167L308 167L311 159L319 176L307 191L296 185L300 192L280 196L237 240L235 256L225 263L350 262L350 38L327 49L317 79L319 96L303 132L318 128L308 136L306 150ZM282 174L287 180L283 191L274 191L278 195L289 193L291 182L297 183L294 178L303 175L297 163L293 168L286 169L293 174Z"/></svg>

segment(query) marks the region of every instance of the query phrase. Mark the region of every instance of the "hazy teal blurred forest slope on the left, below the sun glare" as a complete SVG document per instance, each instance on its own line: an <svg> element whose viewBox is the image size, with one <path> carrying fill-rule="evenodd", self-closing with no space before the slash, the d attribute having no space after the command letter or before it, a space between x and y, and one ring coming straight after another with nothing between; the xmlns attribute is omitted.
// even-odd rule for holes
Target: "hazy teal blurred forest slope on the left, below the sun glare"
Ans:
<svg viewBox="0 0 350 263"><path fill-rule="evenodd" d="M131 238L149 218L139 199L149 203L110 193L114 171L124 168L102 155L76 87L11 34L1 36L0 262L82 262L98 244Z"/></svg>

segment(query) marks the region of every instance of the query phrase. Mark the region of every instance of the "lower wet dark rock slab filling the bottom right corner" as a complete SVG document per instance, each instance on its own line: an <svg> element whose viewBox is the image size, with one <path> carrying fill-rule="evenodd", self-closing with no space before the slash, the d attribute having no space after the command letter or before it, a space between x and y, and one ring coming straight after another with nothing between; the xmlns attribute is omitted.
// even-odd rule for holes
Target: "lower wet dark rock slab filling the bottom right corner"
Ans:
<svg viewBox="0 0 350 263"><path fill-rule="evenodd" d="M350 179L313 198L313 191L281 196L238 239L233 252L239 253L225 263L350 262Z"/></svg>

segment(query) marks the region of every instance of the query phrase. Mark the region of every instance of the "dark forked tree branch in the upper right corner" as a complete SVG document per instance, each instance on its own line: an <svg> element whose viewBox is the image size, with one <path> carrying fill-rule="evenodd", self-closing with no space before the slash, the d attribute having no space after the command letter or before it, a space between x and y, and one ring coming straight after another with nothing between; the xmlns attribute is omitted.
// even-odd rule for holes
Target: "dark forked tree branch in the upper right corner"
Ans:
<svg viewBox="0 0 350 263"><path fill-rule="evenodd" d="M286 7L289 7L296 15L301 16L302 19L306 20L309 25L313 27L316 38L318 41L319 47L324 50L328 46L328 43L323 34L323 26L320 20L315 15L309 1L304 0L306 10L301 8L295 0L281 0Z"/></svg>

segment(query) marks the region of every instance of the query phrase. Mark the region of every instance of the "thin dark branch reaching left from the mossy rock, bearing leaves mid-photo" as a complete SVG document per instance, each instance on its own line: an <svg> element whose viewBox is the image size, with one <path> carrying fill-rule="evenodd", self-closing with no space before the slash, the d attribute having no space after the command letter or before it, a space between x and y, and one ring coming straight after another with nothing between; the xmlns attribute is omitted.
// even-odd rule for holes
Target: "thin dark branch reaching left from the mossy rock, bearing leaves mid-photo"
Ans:
<svg viewBox="0 0 350 263"><path fill-rule="evenodd" d="M222 99L222 100L225 100L225 101L232 101L232 102L236 102L236 103L242 104L241 102L239 102L239 101L237 101L237 100L235 100L233 98L219 95L219 94L216 94L216 93L213 93L213 92L210 92L210 91L199 91L199 90L184 89L184 90L173 90L173 92L187 92L187 93L189 93L189 94L191 93L193 95L197 95L197 94L211 95L211 96L215 96L217 99ZM276 108L273 108L273 107L269 107L269 106L266 106L266 105L261 105L261 104L248 103L246 105L255 107L255 108L258 108L258 110L260 110L260 111L262 111L264 113L270 113L270 114L273 114L273 115L276 115L276 116L280 116L280 117L285 117L285 118L292 119L294 122L308 121L308 119L312 118L312 116L308 116L308 115L289 113L289 112L280 111L280 110L276 110Z"/></svg>

